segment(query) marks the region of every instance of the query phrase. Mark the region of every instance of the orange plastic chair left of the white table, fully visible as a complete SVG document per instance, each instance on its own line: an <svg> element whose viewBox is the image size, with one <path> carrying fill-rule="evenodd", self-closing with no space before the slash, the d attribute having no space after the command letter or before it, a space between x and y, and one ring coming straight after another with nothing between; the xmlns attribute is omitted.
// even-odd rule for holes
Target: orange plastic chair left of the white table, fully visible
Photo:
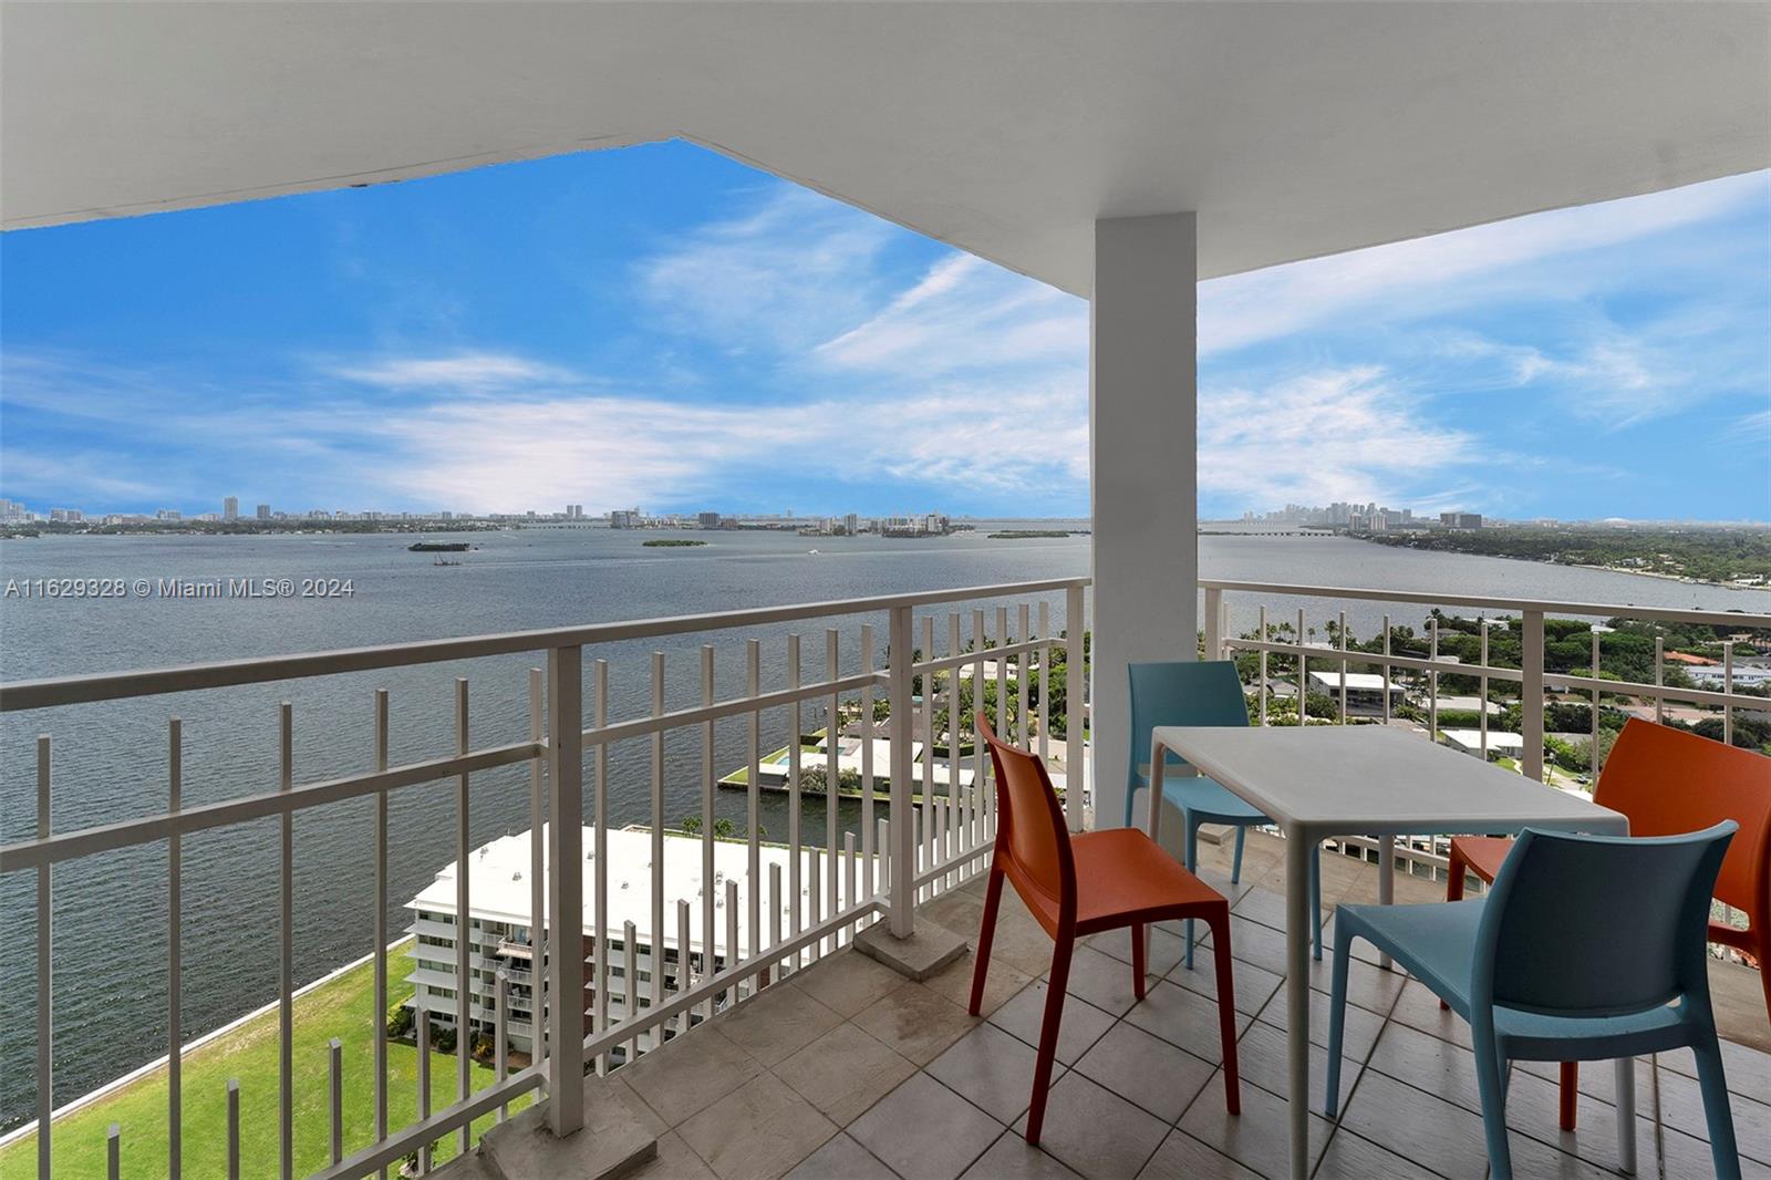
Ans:
<svg viewBox="0 0 1771 1180"><path fill-rule="evenodd" d="M990 937L1004 877L1052 935L1052 978L1045 992L1040 1058L1032 1070L1032 1109L1027 1143L1040 1141L1045 1091L1052 1084L1057 1026L1064 1015L1070 957L1080 937L1132 928L1132 989L1144 998L1144 927L1153 921L1197 918L1211 930L1217 959L1218 1031L1224 1038L1224 1104L1241 1113L1236 1081L1236 983L1231 978L1229 902L1194 877L1137 827L1112 827L1071 836L1052 790L1045 764L997 739L979 718L978 734L990 744L995 765L997 840L990 859L990 886L978 930L978 966L972 969L971 1013L978 1015L990 971Z"/></svg>

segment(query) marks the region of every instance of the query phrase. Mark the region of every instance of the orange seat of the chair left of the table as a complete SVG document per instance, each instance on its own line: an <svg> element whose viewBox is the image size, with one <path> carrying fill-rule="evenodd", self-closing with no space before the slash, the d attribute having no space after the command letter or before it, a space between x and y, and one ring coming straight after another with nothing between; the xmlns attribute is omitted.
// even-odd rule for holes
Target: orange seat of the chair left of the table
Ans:
<svg viewBox="0 0 1771 1180"><path fill-rule="evenodd" d="M1070 850L1077 863L1077 934L1185 918L1185 911L1204 916L1213 905L1229 909L1222 893L1137 827L1073 835Z"/></svg>

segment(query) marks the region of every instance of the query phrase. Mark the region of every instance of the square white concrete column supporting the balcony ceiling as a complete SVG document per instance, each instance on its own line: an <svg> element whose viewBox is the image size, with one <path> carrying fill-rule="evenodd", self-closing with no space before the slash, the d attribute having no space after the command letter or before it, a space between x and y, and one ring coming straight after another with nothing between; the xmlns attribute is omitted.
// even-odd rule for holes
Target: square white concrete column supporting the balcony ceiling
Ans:
<svg viewBox="0 0 1771 1180"><path fill-rule="evenodd" d="M1094 223L1089 491L1094 528L1094 824L1118 827L1126 664L1197 657L1195 214ZM1139 737L1139 762L1149 735ZM1142 811L1144 799L1139 799ZM1133 817L1135 819L1135 817ZM1178 824L1165 824L1176 831Z"/></svg>

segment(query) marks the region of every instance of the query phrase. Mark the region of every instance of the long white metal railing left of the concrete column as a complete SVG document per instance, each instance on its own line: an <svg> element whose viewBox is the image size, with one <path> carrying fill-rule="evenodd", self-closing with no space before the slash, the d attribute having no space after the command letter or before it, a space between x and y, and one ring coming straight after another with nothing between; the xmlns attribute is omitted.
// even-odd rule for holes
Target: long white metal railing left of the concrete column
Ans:
<svg viewBox="0 0 1771 1180"><path fill-rule="evenodd" d="M184 806L181 797L182 776L182 728L179 718L168 718L168 755L166 755L166 810L140 817L119 819L106 824L76 827L71 831L53 831L51 790L53 790L53 749L48 735L37 739L37 826L35 835L14 840L0 847L0 873L34 872L37 879L35 934L37 934L37 978L35 978L35 1084L37 1084L37 1161L39 1175L50 1176L53 1166L53 1008L51 989L53 962L53 927L51 927L51 877L55 865L80 861L115 849L154 845L165 842L168 858L168 1169L179 1176L182 1120L182 1077L179 1029L182 987L179 962L179 921L181 921L181 842L191 833L232 827L260 819L280 820L278 849L278 1171L282 1176L294 1173L294 856L292 824L301 811L342 803L347 799L374 799L374 882L375 882L375 927L374 927L374 992L377 1019L374 1029L365 1035L374 1038L374 1139L351 1155L344 1155L344 1120L342 1111L342 1056L336 1047L331 1051L331 1159L317 1175L326 1176L361 1176L386 1171L407 1153L418 1153L420 1166L429 1166L430 1145L448 1134L459 1137L462 1148L469 1146L471 1123L482 1114L498 1111L508 1113L514 1098L542 1090L547 1095L547 1118L556 1134L570 1134L583 1123L584 1074L590 1068L609 1068L615 1054L623 1060L641 1051L641 1036L646 1044L662 1044L664 1036L689 1029L694 1019L707 1017L715 1005L733 1003L779 980L783 974L800 969L808 960L834 951L845 944L854 932L880 914L889 916L896 934L909 934L914 923L914 905L919 897L928 897L965 879L978 870L978 861L988 856L994 836L995 804L986 790L986 760L981 744L972 742L969 755L962 753L963 728L960 712L965 689L976 709L994 712L999 732L1013 734L1022 744L1032 744L1043 755L1052 753L1050 742L1050 680L1047 670L1063 652L1068 670L1077 670L1075 677L1066 675L1066 741L1064 764L1070 774L1071 790L1066 792L1066 810L1071 827L1080 829L1084 815L1082 783L1082 734L1086 716L1086 677L1082 675L1082 634L1084 634L1084 592L1087 579L1068 578L1034 583L972 586L960 590L942 590L912 595L887 595L871 599L848 599L841 602L818 602L808 606L777 606L760 609L726 611L715 615L689 615L675 618L655 618L638 622L597 624L584 627L561 627L549 631L524 631L492 634L462 640L434 640L423 643L398 643L390 647L368 647L336 652L317 652L303 656L282 656L266 659L243 659L228 663L193 664L184 668L122 672L83 677L62 677L48 680L23 680L0 684L0 712L21 712L39 709L57 709L94 702L115 702L126 698L158 698L174 693L232 687L246 684L290 682L312 677L333 677L354 672L377 672L391 668L409 668L421 664L439 664L446 661L485 659L514 654L545 654L544 668L531 668L528 675L528 739L475 746L469 728L469 693L468 679L455 680L452 693L453 705L453 751L446 757L430 757L398 765L390 764L390 710L388 689L375 689L374 710L374 751L368 771L344 774L338 778L299 781L294 758L294 707L282 703L278 709L278 780L276 788L262 794L248 794L221 803ZM1002 601L1011 601L1002 604ZM1066 631L1059 636L1052 631L1052 602L1061 599ZM994 627L988 625L990 613L972 606L969 611L969 633L965 615L953 609L955 604L999 602L994 609ZM1034 613L1036 611L1036 613ZM937 624L946 615L946 652L939 652ZM864 617L886 615L887 622L887 666L877 666L875 624ZM825 633L824 679L804 682L800 668L800 636L786 636L786 684L776 689L763 689L760 640L746 640L746 689L739 696L717 698L714 664L715 647L703 645L700 650L698 686L700 703L687 709L666 709L666 661L662 652L653 652L650 659L650 709L645 716L620 718L609 716L609 663L593 659L586 668L586 648L607 647L632 640L650 640L664 636L685 636L698 633L733 633L763 625L799 624L816 618L848 618L859 624L859 634L847 641L848 652L857 652L854 659L859 668L843 672L845 640L836 627ZM1013 620L1013 625L1011 625ZM921 645L917 648L917 622L921 622ZM859 650L857 650L859 648ZM994 675L992 675L994 673ZM988 679L986 679L988 677ZM1040 677L1038 698L1032 698L1032 682ZM584 723L584 684L590 682L590 725ZM916 695L916 682L921 682L921 696ZM986 707L986 689L994 687L995 707ZM802 804L802 758L799 735L802 732L800 714L806 705L822 707L827 714L827 751L825 751L825 799L836 803L841 792L839 732L845 718L845 702L859 702L859 716L866 719L864 734L873 737L871 718L875 716L875 696L884 691L889 702L889 792L877 797L873 742L862 741L861 787L857 803L861 819L857 829L848 829L839 817L839 806L825 806L825 829L822 833L822 856L802 856L808 833L800 824ZM946 746L946 781L947 790L935 790L935 757L939 712L947 712ZM788 882L783 895L779 865L770 863L767 882L762 872L760 840L760 760L762 760L762 718L770 710L785 710L792 718L788 741ZM1008 714L1008 716L1004 716ZM746 721L747 771L746 780L746 815L747 831L744 835L747 852L747 872L744 875L746 927L740 937L740 888L737 881L726 881L724 895L724 930L715 921L715 891L712 882L715 849L715 723L728 718ZM926 737L921 764L921 796L914 792L917 767L912 760L917 730ZM94 732L94 730L83 730ZM664 829L666 829L666 760L664 741L668 734L687 732L700 737L701 744L701 889L700 914L689 898L666 900L664 881ZM629 783L611 781L609 748L615 742L643 739L650 742L648 769L645 787L650 801L652 831L652 900L650 900L650 939L653 946L653 969L650 973L648 994L641 994L643 980L634 967L634 928L627 925L623 948L627 962L622 980L629 989L622 1008L625 1019L613 1019L609 1012L609 974L611 966L604 953L606 935L611 932L609 891L607 891L607 829L609 799L613 790ZM584 760L590 758L590 799L592 815L583 815L584 801ZM971 760L971 783L962 785L965 760ZM475 1028L473 1017L483 1008L473 994L473 966L483 959L473 951L468 930L468 914L473 909L469 852L471 843L471 787L473 776L487 771L528 764L530 767L530 930L544 932L544 914L579 914L586 888L592 893L595 948L590 955L561 953L568 944L577 944L579 932L563 935L545 930L545 939L533 948L533 996L531 1012L540 1010L540 1029L545 1036L535 1045L531 1065L517 1072L507 1072L507 1012L508 985L512 971L499 971L496 978L498 998L492 1005L496 1026L494 1045L498 1052L496 1079L473 1090L469 1074L468 1033ZM420 1006L416 1015L414 1040L418 1047L418 1120L407 1127L388 1125L388 1033L383 1013L388 1010L388 797L397 790L421 783L455 781L455 916L453 937L459 946L462 939L469 943L469 953L450 951L453 967L453 1019L459 1036L457 1044L457 1086L455 1102L441 1111L430 1111L429 1075L430 1075L430 1013ZM584 881L586 856L583 849L584 833L592 835L595 856L590 858L592 881ZM545 847L544 847L545 833ZM800 881L806 873L806 881ZM822 881L820 881L822 875ZM545 889L545 897L544 897ZM767 930L763 920L763 897L767 893ZM800 898L808 905L802 912ZM783 898L786 905L783 905ZM666 914L675 909L675 944L677 962L666 962ZM785 916L785 927L783 927ZM696 918L700 920L696 923ZM414 921L414 927L421 925ZM434 923L432 923L434 925ZM700 925L696 930L694 927ZM429 930L429 927L427 927ZM436 932L432 932L436 934ZM721 937L723 935L723 937ZM700 955L692 953L700 946ZM441 948L437 948L441 950ZM441 960L441 955L437 957ZM696 971L700 960L701 969ZM485 964L482 962L482 969ZM588 978L586 978L588 976ZM558 1003L551 998L590 994L586 1010L581 1003ZM638 1003L636 1003L638 1001ZM650 1001L650 1003L645 1003ZM336 1042L335 1042L336 1045ZM228 1173L237 1175L239 1168L239 1086L228 1083ZM128 1132L128 1129L122 1129ZM115 1136L110 1145L112 1159L117 1159Z"/></svg>

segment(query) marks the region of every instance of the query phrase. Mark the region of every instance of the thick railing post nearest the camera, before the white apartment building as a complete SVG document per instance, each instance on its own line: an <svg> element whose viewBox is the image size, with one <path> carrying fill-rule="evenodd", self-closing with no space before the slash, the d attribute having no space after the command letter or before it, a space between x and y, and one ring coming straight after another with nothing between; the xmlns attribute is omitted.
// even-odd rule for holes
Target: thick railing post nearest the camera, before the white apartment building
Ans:
<svg viewBox="0 0 1771 1180"><path fill-rule="evenodd" d="M606 693L607 670L597 661L599 707ZM547 1054L547 1127L565 1137L584 1125L584 664L583 648L554 647L547 652L547 912L553 914L547 937L547 990L554 1003L549 1013ZM600 718L599 718L600 728ZM597 810L602 811L604 749L597 749ZM597 873L606 863L602 831L597 824ZM597 889L597 996L606 994L602 964L604 897ZM568 914L572 918L568 918ZM542 1008L535 1008L538 1021Z"/></svg>

